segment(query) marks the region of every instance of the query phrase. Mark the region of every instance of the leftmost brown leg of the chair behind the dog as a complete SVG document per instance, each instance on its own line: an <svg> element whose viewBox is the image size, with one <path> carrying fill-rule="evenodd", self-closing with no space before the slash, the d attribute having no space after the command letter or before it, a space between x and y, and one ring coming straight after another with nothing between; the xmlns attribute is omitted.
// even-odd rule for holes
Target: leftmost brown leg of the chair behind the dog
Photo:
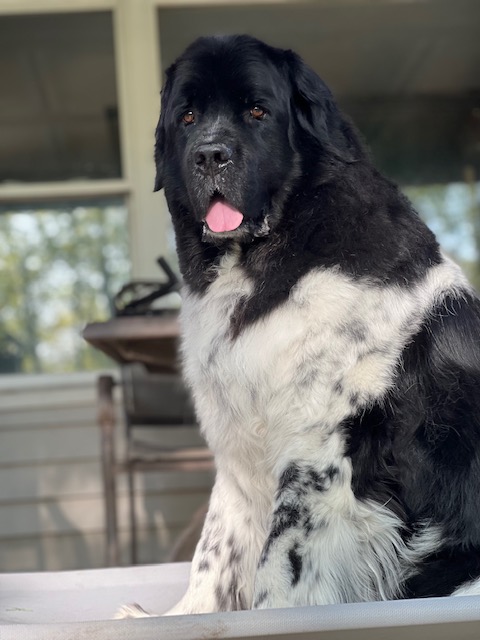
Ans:
<svg viewBox="0 0 480 640"><path fill-rule="evenodd" d="M115 482L114 386L115 381L112 376L99 376L97 380L98 423L101 431L101 459L105 497L105 529L107 538L106 564L108 567L116 566L120 562Z"/></svg>

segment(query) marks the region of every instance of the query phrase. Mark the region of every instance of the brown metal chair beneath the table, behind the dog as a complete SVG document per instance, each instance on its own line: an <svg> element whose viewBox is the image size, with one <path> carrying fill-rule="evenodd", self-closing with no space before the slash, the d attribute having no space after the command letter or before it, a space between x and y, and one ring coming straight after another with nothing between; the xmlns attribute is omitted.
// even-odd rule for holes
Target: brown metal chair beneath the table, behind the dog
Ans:
<svg viewBox="0 0 480 640"><path fill-rule="evenodd" d="M197 429L192 403L176 372L151 372L139 362L121 366L121 387L126 423L126 454L115 455L115 410L112 376L98 379L99 424L102 434L102 470L105 490L107 564L119 564L116 475L128 477L130 559L137 562L137 520L135 513L135 474L139 471L203 471L213 469L213 458L206 446L164 447L138 435L138 427L191 426Z"/></svg>

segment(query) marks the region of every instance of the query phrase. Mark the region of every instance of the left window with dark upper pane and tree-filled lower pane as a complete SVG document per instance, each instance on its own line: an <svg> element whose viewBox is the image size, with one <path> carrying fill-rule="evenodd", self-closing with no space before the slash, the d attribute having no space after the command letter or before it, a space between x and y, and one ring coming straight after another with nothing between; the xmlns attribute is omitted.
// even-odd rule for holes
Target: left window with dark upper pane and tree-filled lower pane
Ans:
<svg viewBox="0 0 480 640"><path fill-rule="evenodd" d="M109 366L81 331L130 279L112 12L0 15L0 82L0 374Z"/></svg>

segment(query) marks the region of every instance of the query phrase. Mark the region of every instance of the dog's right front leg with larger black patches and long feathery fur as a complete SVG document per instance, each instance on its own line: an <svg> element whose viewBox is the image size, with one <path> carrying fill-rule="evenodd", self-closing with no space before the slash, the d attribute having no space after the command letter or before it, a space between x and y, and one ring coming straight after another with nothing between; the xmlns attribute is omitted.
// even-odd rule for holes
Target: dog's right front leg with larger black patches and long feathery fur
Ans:
<svg viewBox="0 0 480 640"><path fill-rule="evenodd" d="M279 478L253 607L395 598L407 555L400 530L388 508L355 498L349 459L289 463Z"/></svg>

